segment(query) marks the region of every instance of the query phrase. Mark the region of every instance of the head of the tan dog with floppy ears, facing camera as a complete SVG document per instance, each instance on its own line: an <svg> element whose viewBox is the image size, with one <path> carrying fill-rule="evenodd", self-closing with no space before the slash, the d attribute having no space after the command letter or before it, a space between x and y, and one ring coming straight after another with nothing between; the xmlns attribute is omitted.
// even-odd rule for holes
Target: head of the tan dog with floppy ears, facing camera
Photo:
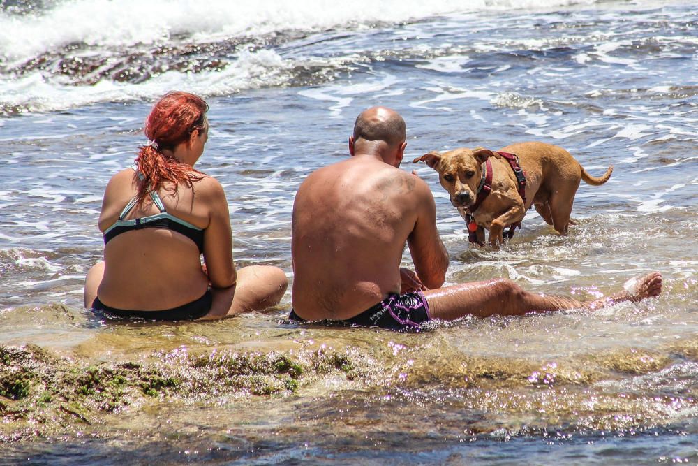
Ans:
<svg viewBox="0 0 698 466"><path fill-rule="evenodd" d="M489 157L501 158L497 152L476 147L461 147L448 152L431 151L417 157L412 163L424 162L438 172L439 182L451 198L454 207L468 208L477 199L477 188L482 180L482 163Z"/></svg>

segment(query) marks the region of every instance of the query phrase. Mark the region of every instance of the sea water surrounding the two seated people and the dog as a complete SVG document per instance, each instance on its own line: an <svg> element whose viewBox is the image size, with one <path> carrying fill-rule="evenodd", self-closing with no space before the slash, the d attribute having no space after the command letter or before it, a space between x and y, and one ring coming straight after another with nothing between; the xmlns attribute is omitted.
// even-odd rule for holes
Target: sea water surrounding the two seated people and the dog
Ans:
<svg viewBox="0 0 698 466"><path fill-rule="evenodd" d="M0 4L1 463L698 460L695 6L400 2L357 17L269 2L233 22L212 2L204 22L181 2L148 35L135 2ZM66 17L79 27L43 32ZM82 282L101 259L103 189L173 88L211 105L198 168L225 187L239 266L292 279L295 190L380 103L406 118L406 161L545 140L593 175L614 164L580 187L568 235L532 210L495 251L468 245L436 173L404 163L436 197L447 282L591 298L661 270L664 294L417 334L297 326L288 294L219 322L99 321Z"/></svg>

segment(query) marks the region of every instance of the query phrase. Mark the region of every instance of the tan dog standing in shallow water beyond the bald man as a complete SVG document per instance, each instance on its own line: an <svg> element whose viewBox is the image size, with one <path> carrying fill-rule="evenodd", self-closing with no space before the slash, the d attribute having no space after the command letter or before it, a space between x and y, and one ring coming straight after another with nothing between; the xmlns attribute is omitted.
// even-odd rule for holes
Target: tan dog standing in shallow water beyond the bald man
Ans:
<svg viewBox="0 0 698 466"><path fill-rule="evenodd" d="M438 172L439 182L450 194L451 203L464 219L470 214L477 224L474 233L482 245L483 228L489 230L489 244L497 246L504 242L504 228L512 226L510 235L513 234L513 226L520 224L531 204L549 225L559 233L567 233L567 226L574 224L570 214L579 181L599 186L613 173L613 166L610 166L603 176L593 177L569 152L546 143L517 143L507 145L500 152L516 154L519 158L526 177L525 204L517 189L519 182L514 170L499 152L482 147L473 150L461 147L443 153L432 151L413 160L413 163L426 162ZM491 191L481 199L475 212L469 212L468 208L477 200L488 159L493 168ZM523 189L523 182L521 187Z"/></svg>

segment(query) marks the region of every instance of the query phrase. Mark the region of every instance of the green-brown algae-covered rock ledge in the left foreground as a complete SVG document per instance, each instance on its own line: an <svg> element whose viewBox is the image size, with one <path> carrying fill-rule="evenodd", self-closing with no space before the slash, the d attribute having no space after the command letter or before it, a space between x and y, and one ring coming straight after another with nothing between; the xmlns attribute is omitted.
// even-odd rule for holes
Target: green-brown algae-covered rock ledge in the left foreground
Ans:
<svg viewBox="0 0 698 466"><path fill-rule="evenodd" d="M143 361L94 364L36 345L0 346L0 442L98 425L108 414L162 400L283 396L313 374L335 370L349 379L359 373L357 365L348 354L325 350L290 356L177 349Z"/></svg>

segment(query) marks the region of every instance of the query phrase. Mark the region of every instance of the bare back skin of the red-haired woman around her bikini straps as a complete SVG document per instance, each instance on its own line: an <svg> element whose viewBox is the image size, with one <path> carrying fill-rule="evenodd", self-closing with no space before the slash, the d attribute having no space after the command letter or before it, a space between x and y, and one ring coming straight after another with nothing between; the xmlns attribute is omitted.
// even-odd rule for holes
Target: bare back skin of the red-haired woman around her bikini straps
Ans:
<svg viewBox="0 0 698 466"><path fill-rule="evenodd" d="M201 268L198 245L185 234L188 229L202 238L209 226L209 205L197 196L197 191L205 190L209 180L202 177L193 182L191 188L179 184L176 191L172 190L172 184L170 187L165 184L158 190L157 198L163 203L165 215L189 225L178 225L184 233L160 226L134 226L119 228L124 231L108 239L104 249L104 278L98 289L105 305L134 310L165 309L188 303L205 293L208 278ZM131 168L112 178L105 191L99 220L103 233L113 234L110 228L116 226L124 207L138 194L140 184L137 173ZM123 220L133 223L134 219L156 217L163 217L163 212L151 197L147 197L133 206Z"/></svg>

